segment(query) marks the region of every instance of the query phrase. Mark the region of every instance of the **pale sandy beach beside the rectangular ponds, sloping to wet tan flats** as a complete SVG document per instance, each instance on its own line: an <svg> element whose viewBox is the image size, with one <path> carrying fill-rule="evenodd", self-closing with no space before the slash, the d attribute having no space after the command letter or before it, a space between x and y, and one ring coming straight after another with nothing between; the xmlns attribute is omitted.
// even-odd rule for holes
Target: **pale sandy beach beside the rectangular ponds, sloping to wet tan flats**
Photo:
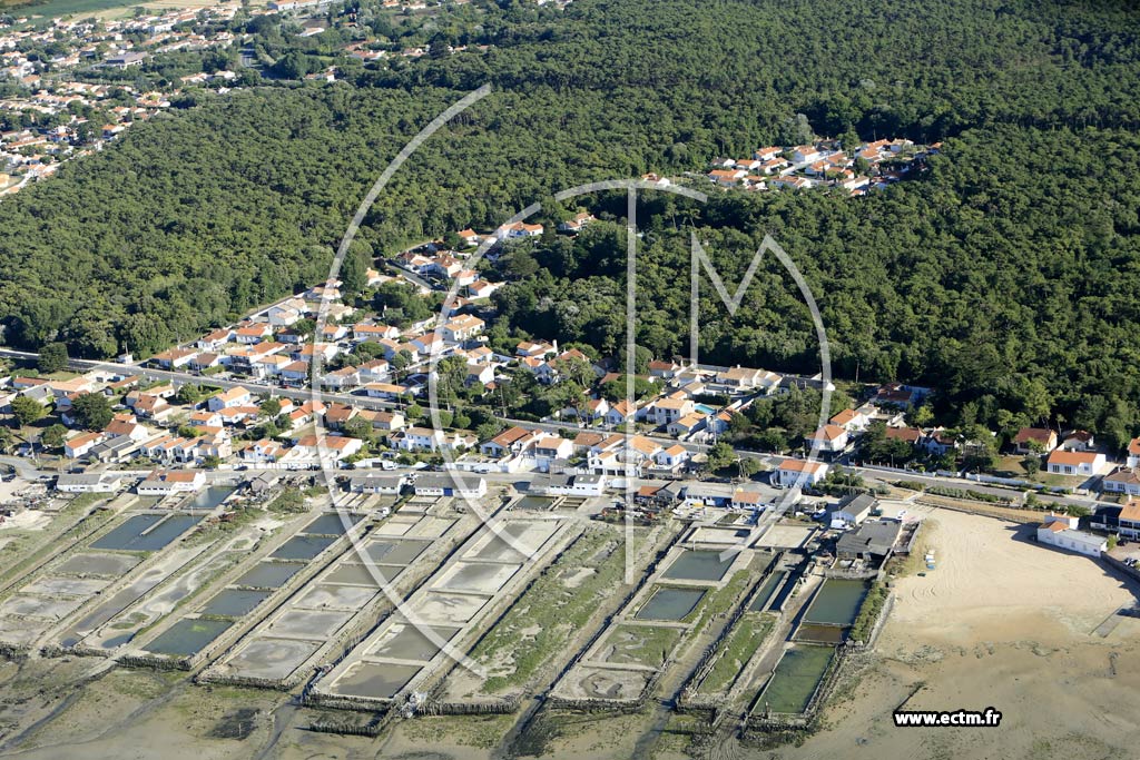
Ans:
<svg viewBox="0 0 1140 760"><path fill-rule="evenodd" d="M1027 541L1029 529L946 509L919 545L937 570L896 587L870 664L824 729L775 758L1134 758L1140 621L1092 631L1137 588L1101 563ZM984 710L997 728L896 728L891 711ZM763 757L771 757L766 753Z"/></svg>

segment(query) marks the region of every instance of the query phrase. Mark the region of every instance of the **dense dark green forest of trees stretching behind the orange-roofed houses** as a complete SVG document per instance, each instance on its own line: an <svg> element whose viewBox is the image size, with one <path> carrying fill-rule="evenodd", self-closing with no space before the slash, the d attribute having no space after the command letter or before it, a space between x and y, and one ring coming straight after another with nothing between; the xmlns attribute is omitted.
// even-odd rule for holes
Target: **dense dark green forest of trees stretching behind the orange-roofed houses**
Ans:
<svg viewBox="0 0 1140 760"><path fill-rule="evenodd" d="M320 279L380 170L490 82L382 194L360 234L374 251L491 227L535 199L557 212L551 194L584 181L700 170L792 141L805 121L847 141L942 140L922 178L864 198L646 197L638 343L684 349L686 224L730 285L769 232L816 292L837 374L938 385L963 424L1037 408L1043 391L1056 415L1119 442L1140 423L1138 31L1137 11L1109 2L487 6L477 28L441 24L432 40L486 51L203 92L6 199L3 341L148 353ZM603 221L578 240L505 260L497 302L518 329L611 351L624 207L595 202ZM702 305L702 344L775 369L816 356L775 267L736 319Z"/></svg>

